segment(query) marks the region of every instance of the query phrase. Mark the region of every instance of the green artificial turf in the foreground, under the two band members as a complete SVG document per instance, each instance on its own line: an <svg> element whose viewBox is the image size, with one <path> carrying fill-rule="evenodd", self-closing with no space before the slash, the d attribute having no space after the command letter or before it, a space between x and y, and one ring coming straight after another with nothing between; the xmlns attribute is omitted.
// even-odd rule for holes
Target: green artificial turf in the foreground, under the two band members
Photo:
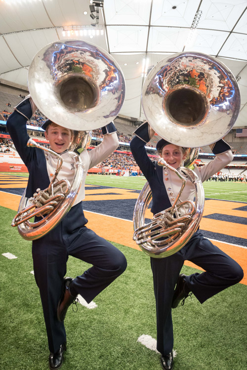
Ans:
<svg viewBox="0 0 247 370"><path fill-rule="evenodd" d="M103 177L103 176L102 176ZM48 348L31 242L11 228L15 212L0 207L0 369L48 369ZM137 339L156 338L150 260L143 252L115 244L126 256L124 274L95 297L97 308L70 307L65 319L68 349L63 370L160 370L159 354ZM17 259L9 260L2 253ZM88 264L70 257L67 276ZM185 274L196 269L184 266ZM203 305L192 296L173 310L174 370L247 368L247 287L238 284Z"/></svg>

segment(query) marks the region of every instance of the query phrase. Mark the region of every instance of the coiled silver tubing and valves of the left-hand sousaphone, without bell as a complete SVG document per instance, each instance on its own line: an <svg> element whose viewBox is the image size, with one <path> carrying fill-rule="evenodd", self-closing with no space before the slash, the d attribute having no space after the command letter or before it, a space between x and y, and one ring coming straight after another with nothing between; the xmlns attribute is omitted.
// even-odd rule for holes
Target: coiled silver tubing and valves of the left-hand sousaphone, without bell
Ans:
<svg viewBox="0 0 247 370"><path fill-rule="evenodd" d="M74 152L69 152L75 163L74 179L71 184L67 179L58 181L57 176L62 167L63 158L51 149L37 144L33 139L29 139L27 146L37 147L57 158L56 172L48 188L44 190L37 189L37 193L31 198L26 197L25 189L18 213L11 224L11 226L17 226L19 234L25 240L36 240L53 229L73 206L82 185L83 168L80 156ZM35 216L39 219L32 220Z"/></svg>

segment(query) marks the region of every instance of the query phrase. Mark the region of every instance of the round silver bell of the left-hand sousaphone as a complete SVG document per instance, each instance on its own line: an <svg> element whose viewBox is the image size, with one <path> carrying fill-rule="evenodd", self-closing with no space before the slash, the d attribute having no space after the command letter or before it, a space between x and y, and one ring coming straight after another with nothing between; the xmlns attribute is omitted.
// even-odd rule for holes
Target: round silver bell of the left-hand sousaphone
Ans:
<svg viewBox="0 0 247 370"><path fill-rule="evenodd" d="M28 87L46 117L78 131L113 121L125 96L118 63L104 49L81 40L43 47L30 65Z"/></svg>

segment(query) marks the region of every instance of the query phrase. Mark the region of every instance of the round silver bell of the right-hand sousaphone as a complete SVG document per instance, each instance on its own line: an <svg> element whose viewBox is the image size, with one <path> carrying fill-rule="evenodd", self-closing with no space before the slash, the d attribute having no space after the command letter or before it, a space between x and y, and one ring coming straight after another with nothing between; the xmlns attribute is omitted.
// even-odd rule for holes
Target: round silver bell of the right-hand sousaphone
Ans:
<svg viewBox="0 0 247 370"><path fill-rule="evenodd" d="M216 58L185 52L159 62L142 89L142 105L152 128L183 147L221 139L240 110L240 91L231 71Z"/></svg>

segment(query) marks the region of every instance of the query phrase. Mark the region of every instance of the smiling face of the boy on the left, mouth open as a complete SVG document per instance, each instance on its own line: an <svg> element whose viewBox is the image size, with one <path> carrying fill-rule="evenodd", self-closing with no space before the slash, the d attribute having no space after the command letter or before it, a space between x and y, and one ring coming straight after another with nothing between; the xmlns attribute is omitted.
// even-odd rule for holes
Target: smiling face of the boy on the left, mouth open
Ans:
<svg viewBox="0 0 247 370"><path fill-rule="evenodd" d="M58 154L68 149L72 140L71 130L56 123L49 124L44 136L49 141L51 150Z"/></svg>

